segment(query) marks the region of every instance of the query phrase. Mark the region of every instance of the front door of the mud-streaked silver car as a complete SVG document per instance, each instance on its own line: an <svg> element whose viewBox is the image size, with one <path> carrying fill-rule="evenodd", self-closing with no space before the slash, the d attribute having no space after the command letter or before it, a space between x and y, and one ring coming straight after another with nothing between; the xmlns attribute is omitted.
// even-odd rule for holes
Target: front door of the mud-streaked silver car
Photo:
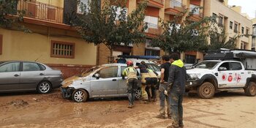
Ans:
<svg viewBox="0 0 256 128"><path fill-rule="evenodd" d="M93 96L113 96L118 94L118 67L103 67L97 72L99 78L91 80L91 94Z"/></svg>

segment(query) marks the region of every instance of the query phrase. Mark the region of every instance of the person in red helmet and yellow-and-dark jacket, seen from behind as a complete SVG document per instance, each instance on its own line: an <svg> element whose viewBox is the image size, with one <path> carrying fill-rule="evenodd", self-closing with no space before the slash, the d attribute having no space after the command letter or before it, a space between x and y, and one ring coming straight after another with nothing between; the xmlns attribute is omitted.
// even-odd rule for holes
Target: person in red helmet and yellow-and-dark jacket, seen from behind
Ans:
<svg viewBox="0 0 256 128"><path fill-rule="evenodd" d="M135 94L138 89L137 69L133 67L132 61L127 61L127 68L122 72L124 79L127 76L127 95L129 100L128 108L134 107Z"/></svg>

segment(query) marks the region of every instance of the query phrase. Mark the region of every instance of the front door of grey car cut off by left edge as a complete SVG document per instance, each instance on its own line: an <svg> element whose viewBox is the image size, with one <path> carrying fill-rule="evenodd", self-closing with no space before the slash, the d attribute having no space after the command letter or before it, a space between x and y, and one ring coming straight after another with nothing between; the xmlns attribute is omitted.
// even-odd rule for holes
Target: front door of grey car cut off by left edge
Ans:
<svg viewBox="0 0 256 128"><path fill-rule="evenodd" d="M19 90L20 62L10 62L0 67L0 91Z"/></svg>

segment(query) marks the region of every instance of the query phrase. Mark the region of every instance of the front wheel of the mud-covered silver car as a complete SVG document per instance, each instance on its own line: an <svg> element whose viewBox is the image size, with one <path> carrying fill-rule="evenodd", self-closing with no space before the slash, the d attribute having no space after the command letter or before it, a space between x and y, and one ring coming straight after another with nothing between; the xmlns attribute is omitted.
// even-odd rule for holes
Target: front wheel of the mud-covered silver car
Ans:
<svg viewBox="0 0 256 128"><path fill-rule="evenodd" d="M86 102L87 98L88 98L87 91L84 91L82 89L75 90L72 93L72 100L74 102Z"/></svg>

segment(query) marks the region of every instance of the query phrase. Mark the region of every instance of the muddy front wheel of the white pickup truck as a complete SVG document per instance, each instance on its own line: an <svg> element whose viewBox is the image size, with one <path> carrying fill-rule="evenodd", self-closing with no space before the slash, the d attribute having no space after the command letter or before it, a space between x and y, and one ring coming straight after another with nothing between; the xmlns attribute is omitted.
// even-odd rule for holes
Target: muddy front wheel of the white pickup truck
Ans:
<svg viewBox="0 0 256 128"><path fill-rule="evenodd" d="M205 82L197 88L197 94L200 98L211 99L215 94L215 87L212 83Z"/></svg>

